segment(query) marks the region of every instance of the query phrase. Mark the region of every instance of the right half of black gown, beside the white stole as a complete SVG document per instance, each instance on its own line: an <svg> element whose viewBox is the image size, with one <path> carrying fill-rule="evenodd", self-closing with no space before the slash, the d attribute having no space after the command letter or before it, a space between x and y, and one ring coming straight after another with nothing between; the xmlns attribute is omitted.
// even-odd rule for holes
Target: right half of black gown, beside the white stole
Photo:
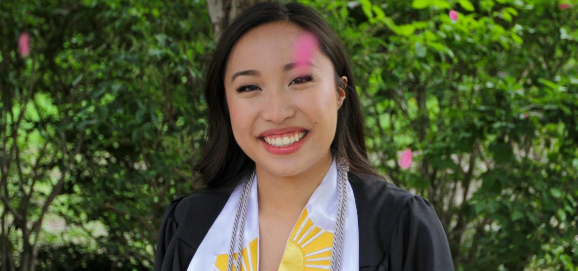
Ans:
<svg viewBox="0 0 578 271"><path fill-rule="evenodd" d="M388 270L454 270L443 226L425 198L373 175L353 174L350 183L360 263Z"/></svg>

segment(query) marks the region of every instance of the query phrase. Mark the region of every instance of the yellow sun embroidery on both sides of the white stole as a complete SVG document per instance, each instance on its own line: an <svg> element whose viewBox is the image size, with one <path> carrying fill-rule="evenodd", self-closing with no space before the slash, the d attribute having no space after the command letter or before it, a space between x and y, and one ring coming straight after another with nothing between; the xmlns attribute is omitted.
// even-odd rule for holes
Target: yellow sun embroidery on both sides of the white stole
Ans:
<svg viewBox="0 0 578 271"><path fill-rule="evenodd" d="M303 210L295 228L289 236L287 246L281 258L279 271L320 271L331 268L331 249L334 235L320 227L313 225L308 217L307 208ZM243 248L243 262L241 271L257 271L257 247L258 239L255 238L247 247ZM236 259L237 254L233 254ZM251 265L249 264L251 260ZM227 270L227 254L217 255L215 266L221 270ZM235 266L233 266L235 270Z"/></svg>

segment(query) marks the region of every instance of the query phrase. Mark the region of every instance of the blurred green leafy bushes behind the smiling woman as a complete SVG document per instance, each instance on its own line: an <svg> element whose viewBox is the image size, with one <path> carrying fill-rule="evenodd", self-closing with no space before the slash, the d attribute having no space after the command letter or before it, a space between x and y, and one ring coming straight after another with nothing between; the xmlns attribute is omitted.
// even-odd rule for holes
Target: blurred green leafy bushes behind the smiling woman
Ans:
<svg viewBox="0 0 578 271"><path fill-rule="evenodd" d="M301 2L457 270L578 270L576 1ZM152 269L166 206L201 187L216 37L251 3L0 1L0 270Z"/></svg>

